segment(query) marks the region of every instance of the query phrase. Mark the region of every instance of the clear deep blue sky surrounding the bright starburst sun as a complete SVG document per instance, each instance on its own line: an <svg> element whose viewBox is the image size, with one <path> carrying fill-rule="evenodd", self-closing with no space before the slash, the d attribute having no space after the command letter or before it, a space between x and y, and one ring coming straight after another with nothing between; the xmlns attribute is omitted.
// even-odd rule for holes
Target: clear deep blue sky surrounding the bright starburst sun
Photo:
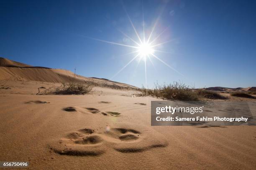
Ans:
<svg viewBox="0 0 256 170"><path fill-rule="evenodd" d="M101 39L137 46L139 41L172 40L146 57L147 85L184 82L195 87L256 86L255 1L235 0L95 0L0 1L0 57L34 66L62 68L79 75L110 79L133 59L136 50ZM112 80L146 85L144 59L133 60Z"/></svg>

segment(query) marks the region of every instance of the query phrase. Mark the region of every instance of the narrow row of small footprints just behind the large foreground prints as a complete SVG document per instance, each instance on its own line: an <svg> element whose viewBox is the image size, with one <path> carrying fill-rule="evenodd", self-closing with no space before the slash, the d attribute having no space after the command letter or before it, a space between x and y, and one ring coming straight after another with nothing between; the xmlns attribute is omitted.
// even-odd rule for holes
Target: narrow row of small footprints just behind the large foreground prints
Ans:
<svg viewBox="0 0 256 170"><path fill-rule="evenodd" d="M105 116L119 116L121 113L119 112L102 112L99 109L95 109L92 107L84 107L84 108L79 108L79 107L64 107L62 110L67 111L67 112L90 112L93 114L101 112L102 115Z"/></svg>

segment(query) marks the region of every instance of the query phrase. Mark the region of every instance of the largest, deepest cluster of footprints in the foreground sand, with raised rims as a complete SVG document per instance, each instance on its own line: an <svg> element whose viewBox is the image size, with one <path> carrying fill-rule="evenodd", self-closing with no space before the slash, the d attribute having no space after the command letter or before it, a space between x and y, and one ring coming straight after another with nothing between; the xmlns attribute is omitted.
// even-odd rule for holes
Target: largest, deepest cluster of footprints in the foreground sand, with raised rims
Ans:
<svg viewBox="0 0 256 170"><path fill-rule="evenodd" d="M61 140L49 145L60 155L98 156L108 148L121 153L137 153L168 145L164 136L144 130L143 133L131 128L93 130L84 128L67 134Z"/></svg>

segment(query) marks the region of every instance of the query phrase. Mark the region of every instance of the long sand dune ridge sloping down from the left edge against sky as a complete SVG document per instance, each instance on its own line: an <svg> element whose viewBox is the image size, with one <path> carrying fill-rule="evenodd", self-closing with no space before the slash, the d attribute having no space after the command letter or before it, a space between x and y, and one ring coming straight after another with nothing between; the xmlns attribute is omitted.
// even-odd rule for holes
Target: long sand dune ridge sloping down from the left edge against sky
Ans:
<svg viewBox="0 0 256 170"><path fill-rule="evenodd" d="M34 67L0 57L0 80L32 80L42 82L72 82L74 73L69 70ZM125 88L137 88L125 83L115 82L104 78L75 76L75 82L93 82L95 84L116 85Z"/></svg>

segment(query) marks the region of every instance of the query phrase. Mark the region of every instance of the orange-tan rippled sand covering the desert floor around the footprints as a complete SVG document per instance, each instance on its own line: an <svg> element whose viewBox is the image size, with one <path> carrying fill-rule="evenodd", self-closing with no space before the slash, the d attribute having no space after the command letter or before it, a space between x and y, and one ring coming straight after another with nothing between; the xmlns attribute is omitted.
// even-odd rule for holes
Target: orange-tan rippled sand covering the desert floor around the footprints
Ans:
<svg viewBox="0 0 256 170"><path fill-rule="evenodd" d="M151 100L160 99L104 87L36 95L72 72L14 66L5 60L0 67L0 85L8 87L0 89L1 161L29 161L28 169L41 170L256 169L256 126L151 126ZM249 102L256 112L256 100Z"/></svg>

